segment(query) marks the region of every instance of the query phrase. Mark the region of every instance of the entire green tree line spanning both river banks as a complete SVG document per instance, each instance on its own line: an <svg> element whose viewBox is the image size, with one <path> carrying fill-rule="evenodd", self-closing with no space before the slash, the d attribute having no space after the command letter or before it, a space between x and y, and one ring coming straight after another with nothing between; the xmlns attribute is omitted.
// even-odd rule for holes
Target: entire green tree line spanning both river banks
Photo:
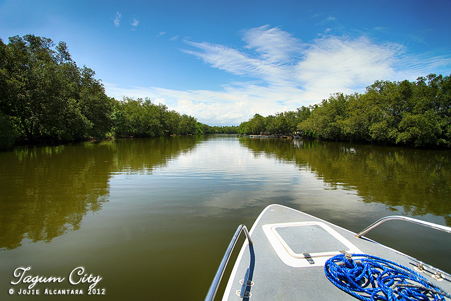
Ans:
<svg viewBox="0 0 451 301"><path fill-rule="evenodd" d="M0 147L105 137L171 134L298 134L305 138L451 147L451 75L376 81L365 93L336 93L319 104L239 126L209 126L150 99L105 94L64 42L26 35L0 39Z"/></svg>

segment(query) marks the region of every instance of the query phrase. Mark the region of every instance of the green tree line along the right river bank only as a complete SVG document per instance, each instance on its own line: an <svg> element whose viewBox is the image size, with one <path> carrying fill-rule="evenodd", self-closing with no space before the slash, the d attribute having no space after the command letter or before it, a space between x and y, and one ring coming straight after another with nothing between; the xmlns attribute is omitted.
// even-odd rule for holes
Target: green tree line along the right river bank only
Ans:
<svg viewBox="0 0 451 301"><path fill-rule="evenodd" d="M414 147L451 147L451 75L376 81L365 93L336 93L320 104L275 116L254 115L242 134L292 133L305 138Z"/></svg>

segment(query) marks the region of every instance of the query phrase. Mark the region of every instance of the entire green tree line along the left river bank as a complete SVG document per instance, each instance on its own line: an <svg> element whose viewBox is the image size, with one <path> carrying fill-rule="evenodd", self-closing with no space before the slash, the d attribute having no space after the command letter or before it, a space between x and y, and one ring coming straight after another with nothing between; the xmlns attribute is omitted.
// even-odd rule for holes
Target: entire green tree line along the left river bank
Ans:
<svg viewBox="0 0 451 301"><path fill-rule="evenodd" d="M233 132L150 99L105 94L64 42L26 35L0 39L0 147L105 137ZM235 130L237 132L237 129Z"/></svg>

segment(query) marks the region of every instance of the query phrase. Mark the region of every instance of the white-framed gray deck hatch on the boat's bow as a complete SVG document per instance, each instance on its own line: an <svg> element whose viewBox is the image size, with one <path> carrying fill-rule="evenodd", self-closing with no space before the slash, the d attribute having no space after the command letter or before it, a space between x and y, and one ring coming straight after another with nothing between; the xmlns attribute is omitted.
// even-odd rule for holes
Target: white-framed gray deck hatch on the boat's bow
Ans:
<svg viewBox="0 0 451 301"><path fill-rule="evenodd" d="M340 254L340 250L361 252L322 222L267 224L263 225L263 231L279 258L293 267L324 266L326 260ZM307 260L303 253L308 253L311 258Z"/></svg>

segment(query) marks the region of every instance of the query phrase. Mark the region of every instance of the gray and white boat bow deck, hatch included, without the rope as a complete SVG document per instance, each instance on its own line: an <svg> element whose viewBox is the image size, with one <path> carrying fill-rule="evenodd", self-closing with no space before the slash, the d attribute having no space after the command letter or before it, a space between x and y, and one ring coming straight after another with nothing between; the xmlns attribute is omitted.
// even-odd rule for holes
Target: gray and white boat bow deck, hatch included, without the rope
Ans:
<svg viewBox="0 0 451 301"><path fill-rule="evenodd" d="M244 300L356 300L331 283L324 272L325 261L340 251L378 256L410 269L416 266L414 260L393 249L281 205L268 206L250 234L254 243L245 241L240 250L223 301L242 299L237 292L248 268L253 284L250 297ZM432 277L434 272L419 273L451 292L450 279L438 281Z"/></svg>

